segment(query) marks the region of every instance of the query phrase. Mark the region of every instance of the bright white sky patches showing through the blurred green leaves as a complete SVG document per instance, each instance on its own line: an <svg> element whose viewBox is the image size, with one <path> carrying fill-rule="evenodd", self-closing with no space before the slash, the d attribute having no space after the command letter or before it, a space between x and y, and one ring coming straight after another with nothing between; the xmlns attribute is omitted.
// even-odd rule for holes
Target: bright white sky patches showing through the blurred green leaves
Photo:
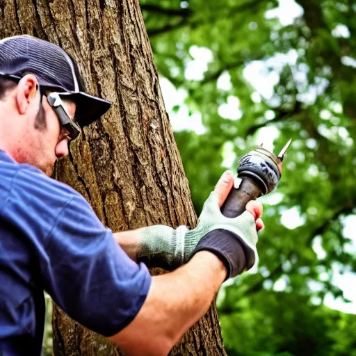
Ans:
<svg viewBox="0 0 356 356"><path fill-rule="evenodd" d="M293 24L296 17L302 15L302 8L294 0L279 0L280 5L277 8L268 10L265 14L266 19L272 19L277 17L282 26L287 26ZM350 31L347 26L343 24L338 24L332 30L332 35L336 38L348 38L350 37ZM208 63L213 60L213 55L211 51L207 48L193 46L190 49L191 56L193 60L186 66L185 76L187 80L201 80L204 78L204 72L208 69ZM273 86L278 83L280 79L280 70L285 63L288 63L293 67L296 64L298 58L298 53L296 50L291 50L287 54L275 54L273 58L266 61L253 61L249 63L244 70L245 78L250 81L251 85L256 89L256 92L252 94L252 100L254 102L261 102L261 99L270 99L273 96ZM355 58L343 57L341 58L341 63L343 65L348 65L351 67L356 67ZM268 67L273 67L274 70L268 70ZM302 83L307 78L307 68L298 67L294 72L296 81ZM188 115L188 107L184 104L184 99L187 93L183 89L176 90L175 87L163 77L160 78L161 89L163 92L163 97L165 101L165 108L170 115L170 122L175 131L181 131L183 129L193 130L198 134L202 134L206 131L202 124L202 115L199 112L193 113L191 116ZM325 82L321 81L318 85L309 86L309 91L300 96L300 100L303 102L313 103L316 99L318 93L325 89ZM218 79L218 88L221 90L229 90L232 88L232 83L230 82L229 74L227 72L223 73ZM179 111L174 113L172 108L179 105ZM339 103L334 103L335 108L342 110ZM222 118L230 120L240 120L243 116L243 112L240 110L238 97L230 95L227 99L227 103L221 105L218 108L218 113ZM265 117L268 120L274 118L273 111L266 111ZM325 120L330 119L330 112L325 111L321 113L321 118ZM331 135L330 132L325 132L325 135ZM349 140L350 145L353 145L353 140L348 137L346 131L343 132L345 139ZM263 143L264 147L270 150L274 150L273 141L279 136L279 131L275 127L266 127L259 130L257 135L257 143ZM310 143L314 145L315 143ZM225 160L223 165L231 167L232 162L235 159L235 155L232 152L232 144L226 143L225 145ZM280 147L279 147L280 148ZM291 147L293 149L293 145ZM298 148L298 147L296 147ZM311 147L312 148L312 147ZM282 194L273 193L264 197L264 202L268 204L278 204L283 199ZM296 227L303 225L305 223L305 216L300 216L298 207L293 207L287 211L284 211L281 216L281 223L288 229L296 229ZM356 215L348 216L343 220L343 235L352 239L353 243L348 245L348 252L356 253ZM268 227L267 227L268 228ZM325 257L325 252L321 247L321 238L316 237L314 239L313 248L318 255L318 259L323 259ZM270 286L276 291L284 290L288 282L288 277L282 277L280 280L275 282L275 284ZM332 295L327 295L324 300L325 305L333 309L339 309L342 312L348 312L356 314L356 274L348 271L341 275L340 268L335 264L333 266L333 282L339 288L343 290L345 298L351 300L351 303L345 303L341 299L335 300ZM268 287L268 286L266 286ZM318 289L318 285L310 284L311 289ZM316 303L320 303L320 300L315 300Z"/></svg>

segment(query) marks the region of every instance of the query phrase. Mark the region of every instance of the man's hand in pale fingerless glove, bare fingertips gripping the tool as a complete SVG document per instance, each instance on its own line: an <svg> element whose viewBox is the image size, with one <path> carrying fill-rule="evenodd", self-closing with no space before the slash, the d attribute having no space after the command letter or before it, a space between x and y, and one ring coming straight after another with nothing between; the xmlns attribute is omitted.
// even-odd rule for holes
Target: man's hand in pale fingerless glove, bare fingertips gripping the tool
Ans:
<svg viewBox="0 0 356 356"><path fill-rule="evenodd" d="M175 269L191 259L197 244L205 235L212 230L225 229L240 236L243 241L247 241L244 245L250 246L248 248L252 248L255 255L250 254L249 261L252 261L252 259L254 261L257 257L257 251L255 251L256 229L264 227L260 218L263 208L259 202L249 202L246 206L249 213L245 212L242 216L234 219L223 216L220 207L229 194L233 183L232 172L225 172L216 184L213 193L205 202L199 223L195 229L190 230L185 225L179 226L177 229L154 225L138 230L140 234L138 237L140 245L138 260L144 261L147 266L151 267L159 266L168 270ZM251 220L256 222L255 228L251 227Z"/></svg>

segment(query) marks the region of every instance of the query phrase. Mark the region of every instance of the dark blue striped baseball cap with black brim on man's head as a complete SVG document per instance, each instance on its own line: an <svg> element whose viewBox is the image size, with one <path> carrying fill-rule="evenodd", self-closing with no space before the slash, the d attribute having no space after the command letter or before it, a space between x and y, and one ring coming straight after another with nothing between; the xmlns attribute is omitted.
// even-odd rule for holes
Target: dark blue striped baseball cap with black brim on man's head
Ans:
<svg viewBox="0 0 356 356"><path fill-rule="evenodd" d="M37 77L44 88L76 103L81 127L99 119L111 102L88 95L75 61L56 44L19 35L0 40L0 76L19 80L26 74Z"/></svg>

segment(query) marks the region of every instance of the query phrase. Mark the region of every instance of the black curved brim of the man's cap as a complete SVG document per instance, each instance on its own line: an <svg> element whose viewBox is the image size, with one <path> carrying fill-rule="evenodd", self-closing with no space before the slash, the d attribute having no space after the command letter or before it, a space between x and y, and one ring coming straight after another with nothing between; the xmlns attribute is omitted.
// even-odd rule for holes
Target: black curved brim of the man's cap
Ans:
<svg viewBox="0 0 356 356"><path fill-rule="evenodd" d="M72 99L76 103L75 117L81 127L98 120L111 107L111 102L85 92L58 92L58 95L63 99Z"/></svg>

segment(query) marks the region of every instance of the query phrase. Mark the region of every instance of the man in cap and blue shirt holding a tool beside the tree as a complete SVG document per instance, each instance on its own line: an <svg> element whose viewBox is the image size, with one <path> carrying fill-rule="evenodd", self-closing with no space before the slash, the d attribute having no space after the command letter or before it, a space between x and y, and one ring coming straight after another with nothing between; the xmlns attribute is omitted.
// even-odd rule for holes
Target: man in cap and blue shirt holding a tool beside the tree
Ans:
<svg viewBox="0 0 356 356"><path fill-rule="evenodd" d="M250 212L234 219L220 213L231 172L204 204L195 229L153 226L118 234L81 195L49 178L68 142L109 107L84 92L76 64L60 47L29 36L0 41L4 355L40 355L43 290L127 355L166 355L207 312L223 281L257 259L261 204L250 202ZM151 277L134 259L179 268Z"/></svg>

